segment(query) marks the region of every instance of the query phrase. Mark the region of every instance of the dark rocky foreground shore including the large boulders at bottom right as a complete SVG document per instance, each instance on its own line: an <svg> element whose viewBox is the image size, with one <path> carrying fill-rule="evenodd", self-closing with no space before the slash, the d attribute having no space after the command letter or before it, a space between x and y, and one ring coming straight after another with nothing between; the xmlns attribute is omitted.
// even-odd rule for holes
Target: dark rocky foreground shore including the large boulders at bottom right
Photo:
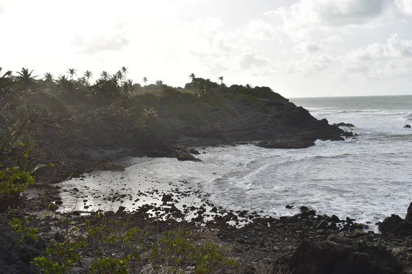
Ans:
<svg viewBox="0 0 412 274"><path fill-rule="evenodd" d="M54 205L61 205L58 188L46 188L48 197L57 199ZM260 212L225 210L206 199L201 206L176 207L182 197L192 194L189 190L142 192L141 196L157 197L159 203L143 204L133 212L120 207L100 214L108 219L129 219L139 227L153 226L157 233L186 227L199 242L229 247L231 258L241 266L236 273L412 273L412 203L405 219L388 217L380 224L382 233L378 234L349 217L341 220L335 215L319 215L305 206L299 214L279 218L260 216ZM38 214L51 208L44 199L31 201L30 207L27 216L38 224L41 235L36 248L58 239L62 219L66 225L84 225L82 212L47 217ZM57 209L58 206L52 207ZM2 232L0 240L5 251L0 260L1 269L6 271L3 273L34 273L29 262L38 249L19 247L7 232ZM72 273L85 271L78 267Z"/></svg>

